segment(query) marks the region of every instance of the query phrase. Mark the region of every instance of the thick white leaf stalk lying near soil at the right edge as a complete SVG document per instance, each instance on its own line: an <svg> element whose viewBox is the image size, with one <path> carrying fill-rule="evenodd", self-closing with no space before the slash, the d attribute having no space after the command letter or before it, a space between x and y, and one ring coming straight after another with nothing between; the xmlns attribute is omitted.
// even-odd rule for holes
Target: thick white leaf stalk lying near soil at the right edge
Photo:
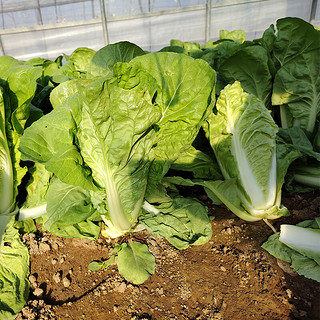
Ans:
<svg viewBox="0 0 320 320"><path fill-rule="evenodd" d="M289 247L320 252L320 233L307 228L283 224L279 240Z"/></svg>

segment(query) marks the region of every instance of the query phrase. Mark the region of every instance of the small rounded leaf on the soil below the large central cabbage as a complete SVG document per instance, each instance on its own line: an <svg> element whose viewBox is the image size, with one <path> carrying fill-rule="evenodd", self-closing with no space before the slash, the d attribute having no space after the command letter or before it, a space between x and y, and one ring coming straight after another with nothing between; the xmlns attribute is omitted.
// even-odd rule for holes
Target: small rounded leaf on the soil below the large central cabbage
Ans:
<svg viewBox="0 0 320 320"><path fill-rule="evenodd" d="M134 284L145 282L155 270L155 258L145 244L129 242L118 252L119 273Z"/></svg>

